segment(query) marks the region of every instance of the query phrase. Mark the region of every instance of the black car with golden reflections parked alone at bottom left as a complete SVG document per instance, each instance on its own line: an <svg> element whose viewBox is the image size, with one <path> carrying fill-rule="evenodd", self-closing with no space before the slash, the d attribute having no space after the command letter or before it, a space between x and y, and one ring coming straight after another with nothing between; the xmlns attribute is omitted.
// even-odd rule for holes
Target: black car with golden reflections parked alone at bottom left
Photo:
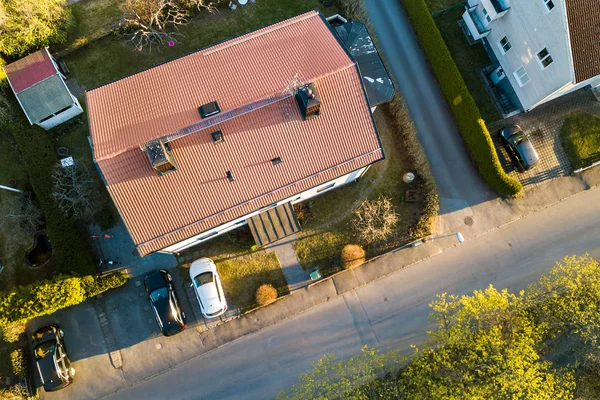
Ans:
<svg viewBox="0 0 600 400"><path fill-rule="evenodd" d="M44 390L62 389L73 382L75 369L67 356L64 332L58 325L38 329L31 336L31 347Z"/></svg>

